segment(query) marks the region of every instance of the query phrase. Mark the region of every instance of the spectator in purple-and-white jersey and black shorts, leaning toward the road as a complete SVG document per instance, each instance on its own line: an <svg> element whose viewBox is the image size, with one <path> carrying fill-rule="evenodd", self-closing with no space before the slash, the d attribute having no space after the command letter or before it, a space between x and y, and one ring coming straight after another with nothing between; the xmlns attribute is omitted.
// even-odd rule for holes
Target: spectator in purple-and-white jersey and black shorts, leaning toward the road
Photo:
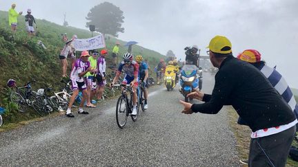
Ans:
<svg viewBox="0 0 298 167"><path fill-rule="evenodd" d="M83 98L81 100L81 104L79 105L79 111L78 113L81 114L89 114L86 111L83 111L83 103L85 102L87 98L87 87L83 80L83 76L90 71L91 74L96 72L96 69L92 69L90 67L90 62L88 61L89 57L88 51L81 52L81 57L76 60L74 63L74 67L72 68L71 74L70 74L70 80L72 80L72 97L70 98L70 102L68 104L68 109L66 111L66 116L70 118L74 118L74 115L71 113L71 107L74 103L75 98L79 94L79 91L83 91Z"/></svg>

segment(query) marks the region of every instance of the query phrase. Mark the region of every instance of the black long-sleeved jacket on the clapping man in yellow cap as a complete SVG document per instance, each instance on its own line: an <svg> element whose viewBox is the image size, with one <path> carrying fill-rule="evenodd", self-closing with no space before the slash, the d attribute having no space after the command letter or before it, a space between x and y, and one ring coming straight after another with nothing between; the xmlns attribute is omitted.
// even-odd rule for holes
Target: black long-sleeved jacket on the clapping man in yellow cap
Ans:
<svg viewBox="0 0 298 167"><path fill-rule="evenodd" d="M224 105L232 105L255 132L288 124L295 115L261 71L233 56L228 56L215 76L212 95L204 104L192 104L192 111L216 114Z"/></svg>

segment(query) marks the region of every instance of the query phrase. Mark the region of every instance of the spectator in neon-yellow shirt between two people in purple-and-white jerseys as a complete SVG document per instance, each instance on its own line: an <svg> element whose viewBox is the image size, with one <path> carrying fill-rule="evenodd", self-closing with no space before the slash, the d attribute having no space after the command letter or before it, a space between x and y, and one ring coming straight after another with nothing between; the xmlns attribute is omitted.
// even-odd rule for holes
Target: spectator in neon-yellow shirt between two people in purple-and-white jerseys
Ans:
<svg viewBox="0 0 298 167"><path fill-rule="evenodd" d="M91 56L88 58L91 69L95 71L97 71L97 56L99 56L99 52L97 52L97 50L92 50ZM95 105L91 103L93 96L95 95L95 88L92 87L92 82L95 79L95 75L88 72L85 76L86 76L86 85L87 85L86 107L95 107Z"/></svg>

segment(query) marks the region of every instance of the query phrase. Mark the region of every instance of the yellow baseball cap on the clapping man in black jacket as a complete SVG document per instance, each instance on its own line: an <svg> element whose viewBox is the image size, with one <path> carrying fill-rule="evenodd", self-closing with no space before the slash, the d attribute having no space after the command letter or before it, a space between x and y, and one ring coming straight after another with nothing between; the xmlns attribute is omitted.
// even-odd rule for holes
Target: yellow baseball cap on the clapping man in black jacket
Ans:
<svg viewBox="0 0 298 167"><path fill-rule="evenodd" d="M232 44L226 36L215 36L206 48L218 54L230 54L232 52Z"/></svg>

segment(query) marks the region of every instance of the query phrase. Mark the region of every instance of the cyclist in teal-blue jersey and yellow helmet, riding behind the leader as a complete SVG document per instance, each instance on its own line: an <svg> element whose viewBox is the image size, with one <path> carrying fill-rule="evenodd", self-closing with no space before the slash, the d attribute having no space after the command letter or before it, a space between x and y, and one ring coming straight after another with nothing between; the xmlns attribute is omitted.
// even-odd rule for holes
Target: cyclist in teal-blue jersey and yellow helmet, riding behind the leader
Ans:
<svg viewBox="0 0 298 167"><path fill-rule="evenodd" d="M139 64L139 78L142 82L143 92L144 92L144 109L148 109L147 98L148 98L148 91L147 87L147 79L149 76L148 73L148 65L143 61L143 57L141 55L136 56L136 61Z"/></svg>

